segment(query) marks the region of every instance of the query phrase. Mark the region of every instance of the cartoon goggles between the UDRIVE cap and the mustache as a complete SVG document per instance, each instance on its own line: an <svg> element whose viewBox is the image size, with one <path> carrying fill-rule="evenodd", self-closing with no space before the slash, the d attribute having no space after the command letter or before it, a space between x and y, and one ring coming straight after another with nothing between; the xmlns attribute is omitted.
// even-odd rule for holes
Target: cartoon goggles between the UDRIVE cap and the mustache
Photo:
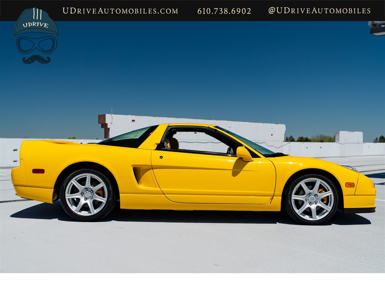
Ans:
<svg viewBox="0 0 385 289"><path fill-rule="evenodd" d="M20 53L28 54L37 49L45 54L50 54L55 51L57 40L53 36L40 38L30 38L20 36L16 39L16 46Z"/></svg>

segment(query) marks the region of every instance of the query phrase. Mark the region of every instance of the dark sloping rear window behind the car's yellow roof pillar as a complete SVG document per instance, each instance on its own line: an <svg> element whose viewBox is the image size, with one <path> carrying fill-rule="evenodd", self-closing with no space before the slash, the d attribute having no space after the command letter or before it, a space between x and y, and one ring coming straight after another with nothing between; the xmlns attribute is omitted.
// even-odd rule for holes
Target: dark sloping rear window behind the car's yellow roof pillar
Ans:
<svg viewBox="0 0 385 289"><path fill-rule="evenodd" d="M137 148L156 128L157 126L147 126L147 128L140 128L135 131L130 131L129 133L114 136L113 138L107 138L104 141L100 141L98 144Z"/></svg>

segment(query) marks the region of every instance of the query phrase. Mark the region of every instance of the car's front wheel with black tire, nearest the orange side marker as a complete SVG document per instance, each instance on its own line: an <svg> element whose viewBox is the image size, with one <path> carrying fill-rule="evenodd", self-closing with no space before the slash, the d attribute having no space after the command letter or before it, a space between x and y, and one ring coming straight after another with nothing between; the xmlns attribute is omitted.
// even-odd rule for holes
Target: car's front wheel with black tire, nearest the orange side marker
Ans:
<svg viewBox="0 0 385 289"><path fill-rule="evenodd" d="M300 176L289 185L284 195L286 212L305 225L319 225L330 220L337 210L338 201L336 186L322 175Z"/></svg>

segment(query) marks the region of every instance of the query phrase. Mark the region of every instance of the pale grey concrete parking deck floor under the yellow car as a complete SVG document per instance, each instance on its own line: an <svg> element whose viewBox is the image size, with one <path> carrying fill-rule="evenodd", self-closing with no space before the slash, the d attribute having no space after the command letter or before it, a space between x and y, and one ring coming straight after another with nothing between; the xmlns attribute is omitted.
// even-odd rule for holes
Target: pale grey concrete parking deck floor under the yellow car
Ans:
<svg viewBox="0 0 385 289"><path fill-rule="evenodd" d="M325 160L372 178L375 213L305 226L283 212L115 208L83 223L17 198L0 169L0 200L21 200L0 203L0 272L385 272L385 156Z"/></svg>

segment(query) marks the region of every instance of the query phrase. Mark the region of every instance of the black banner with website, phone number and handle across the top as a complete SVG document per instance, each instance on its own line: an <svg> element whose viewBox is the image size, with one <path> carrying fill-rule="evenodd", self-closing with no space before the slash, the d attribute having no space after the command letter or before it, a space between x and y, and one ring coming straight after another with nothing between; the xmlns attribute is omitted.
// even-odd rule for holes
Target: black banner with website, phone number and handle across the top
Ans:
<svg viewBox="0 0 385 289"><path fill-rule="evenodd" d="M27 8L55 21L382 21L383 0L253 1L10 1L0 20L16 21Z"/></svg>

